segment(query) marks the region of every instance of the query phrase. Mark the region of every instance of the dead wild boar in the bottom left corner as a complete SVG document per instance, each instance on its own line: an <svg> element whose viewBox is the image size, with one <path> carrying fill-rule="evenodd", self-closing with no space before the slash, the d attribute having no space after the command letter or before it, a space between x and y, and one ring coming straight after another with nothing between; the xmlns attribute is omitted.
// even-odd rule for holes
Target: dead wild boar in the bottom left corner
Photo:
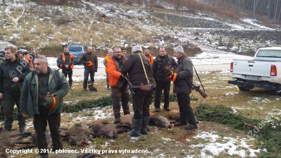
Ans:
<svg viewBox="0 0 281 158"><path fill-rule="evenodd" d="M31 144L32 142L19 141L22 138L28 137L31 132L1 132L0 133L0 157L8 157L6 149L21 150L35 147L29 146L17 146L15 144Z"/></svg>

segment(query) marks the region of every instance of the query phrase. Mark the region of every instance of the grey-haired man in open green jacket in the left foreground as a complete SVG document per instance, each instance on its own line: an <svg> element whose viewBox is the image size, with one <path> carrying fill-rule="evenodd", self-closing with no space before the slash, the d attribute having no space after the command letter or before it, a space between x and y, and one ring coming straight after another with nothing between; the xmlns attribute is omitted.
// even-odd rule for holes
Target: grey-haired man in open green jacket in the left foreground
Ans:
<svg viewBox="0 0 281 158"><path fill-rule="evenodd" d="M62 98L69 91L64 75L48 66L47 58L38 55L34 58L35 70L26 76L21 87L20 112L23 117L33 115L39 151L46 151L46 126L49 124L54 150L62 149L60 136L60 113L63 110ZM40 157L48 157L48 152L40 152Z"/></svg>

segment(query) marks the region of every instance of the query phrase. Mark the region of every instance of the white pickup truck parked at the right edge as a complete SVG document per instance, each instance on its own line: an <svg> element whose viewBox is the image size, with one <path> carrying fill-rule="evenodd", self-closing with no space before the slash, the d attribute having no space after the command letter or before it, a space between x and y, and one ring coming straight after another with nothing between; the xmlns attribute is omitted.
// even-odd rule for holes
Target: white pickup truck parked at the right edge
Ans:
<svg viewBox="0 0 281 158"><path fill-rule="evenodd" d="M240 90L254 87L275 89L281 94L281 47L260 48L253 60L232 60L230 65L230 84L236 84Z"/></svg>

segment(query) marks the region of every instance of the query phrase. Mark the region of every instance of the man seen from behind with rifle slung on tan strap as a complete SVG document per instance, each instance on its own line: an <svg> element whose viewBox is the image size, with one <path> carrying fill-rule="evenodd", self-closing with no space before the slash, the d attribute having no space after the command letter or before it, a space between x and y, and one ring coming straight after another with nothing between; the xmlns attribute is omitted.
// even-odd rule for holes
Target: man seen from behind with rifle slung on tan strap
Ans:
<svg viewBox="0 0 281 158"><path fill-rule="evenodd" d="M147 134L147 126L150 121L149 105L152 102L152 94L155 88L155 81L152 77L152 68L150 61L143 54L142 47L136 45L132 48L132 54L121 66L121 73L129 75L132 85L152 84L151 91L144 91L140 88L134 88L132 93L132 103L134 117L132 118L132 130L127 132L132 137L139 137L140 133Z"/></svg>

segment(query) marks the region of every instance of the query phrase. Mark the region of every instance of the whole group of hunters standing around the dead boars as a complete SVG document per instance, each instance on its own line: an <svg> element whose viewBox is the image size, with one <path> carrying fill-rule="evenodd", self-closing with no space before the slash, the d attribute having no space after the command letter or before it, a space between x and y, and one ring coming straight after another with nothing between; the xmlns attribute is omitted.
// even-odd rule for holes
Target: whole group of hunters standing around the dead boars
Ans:
<svg viewBox="0 0 281 158"><path fill-rule="evenodd" d="M74 68L73 55L68 48L63 48L60 55L60 68L62 73L49 67L45 56L36 53L35 47L30 48L30 53L25 57L20 56L13 47L5 48L5 58L0 59L0 99L4 115L4 131L11 131L13 123L13 108L18 109L18 127L20 132L26 132L26 117L34 118L34 129L37 134L38 148L46 149L45 130L49 124L54 150L62 149L59 134L60 114L63 111L62 98L72 88L72 74ZM147 134L150 121L149 106L155 92L154 107L159 112L161 93L164 93L163 109L170 111L169 97L170 86L173 81L173 93L177 94L180 121L174 126L187 125L185 129L196 129L197 124L194 112L190 105L192 89L184 80L193 79L193 63L183 51L181 46L174 48L173 57L167 54L165 47L159 48L159 54L153 59L149 50L136 45L132 48L131 55L127 57L126 51L114 47L108 51L104 58L107 75L107 90L111 90L112 108L115 122L120 121L121 104L124 115L129 111L128 85L137 86L130 89L134 115L132 117L132 130L127 132L132 137ZM84 65L83 90L87 91L87 81L95 82L95 72L98 71L97 55L88 47L80 59ZM170 69L165 69L170 67ZM66 77L68 75L68 82ZM142 88L142 87L150 88ZM121 104L120 104L121 99ZM47 123L48 122L48 123ZM40 153L40 157L48 157L48 153Z"/></svg>

